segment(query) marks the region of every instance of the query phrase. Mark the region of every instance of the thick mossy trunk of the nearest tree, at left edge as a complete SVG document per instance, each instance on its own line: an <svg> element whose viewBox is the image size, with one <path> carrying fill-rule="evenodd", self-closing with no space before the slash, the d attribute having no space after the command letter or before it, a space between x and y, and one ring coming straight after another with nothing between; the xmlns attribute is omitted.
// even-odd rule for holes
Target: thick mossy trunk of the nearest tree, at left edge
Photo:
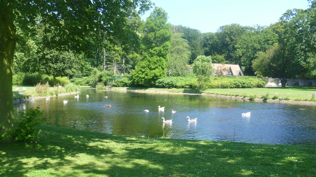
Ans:
<svg viewBox="0 0 316 177"><path fill-rule="evenodd" d="M14 129L12 66L15 50L13 7L4 1L0 6L0 134Z"/></svg>

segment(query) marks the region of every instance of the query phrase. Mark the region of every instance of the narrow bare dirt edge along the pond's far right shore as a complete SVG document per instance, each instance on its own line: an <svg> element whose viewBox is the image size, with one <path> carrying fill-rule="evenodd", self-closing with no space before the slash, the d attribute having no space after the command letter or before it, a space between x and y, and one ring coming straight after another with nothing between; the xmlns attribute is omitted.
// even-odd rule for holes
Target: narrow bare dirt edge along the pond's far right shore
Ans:
<svg viewBox="0 0 316 177"><path fill-rule="evenodd" d="M236 99L236 100L244 100L244 101L256 101L256 102L267 102L267 103L286 103L286 104L299 104L299 105L316 105L316 102L313 101L295 101L295 100L264 100L260 98L255 98L254 100L250 100L249 97L243 96L232 96L232 95L221 95L221 94L208 94L208 93L198 93L198 92L176 92L176 91L168 91L168 90L132 90L126 88L110 88L108 90L118 90L118 91L127 91L127 92L139 92L139 93L171 93L171 94L197 94L197 95L204 95L204 96L212 96L212 97L219 97L219 98L229 98L229 99Z"/></svg>

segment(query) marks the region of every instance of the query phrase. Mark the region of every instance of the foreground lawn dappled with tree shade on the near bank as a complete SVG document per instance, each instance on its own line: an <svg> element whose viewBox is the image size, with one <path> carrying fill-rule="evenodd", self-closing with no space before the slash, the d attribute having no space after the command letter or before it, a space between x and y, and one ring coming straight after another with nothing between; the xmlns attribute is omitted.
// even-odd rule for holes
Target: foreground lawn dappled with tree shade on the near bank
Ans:
<svg viewBox="0 0 316 177"><path fill-rule="evenodd" d="M315 176L314 146L130 137L41 126L36 146L0 144L0 176ZM202 154L201 154L202 153Z"/></svg>

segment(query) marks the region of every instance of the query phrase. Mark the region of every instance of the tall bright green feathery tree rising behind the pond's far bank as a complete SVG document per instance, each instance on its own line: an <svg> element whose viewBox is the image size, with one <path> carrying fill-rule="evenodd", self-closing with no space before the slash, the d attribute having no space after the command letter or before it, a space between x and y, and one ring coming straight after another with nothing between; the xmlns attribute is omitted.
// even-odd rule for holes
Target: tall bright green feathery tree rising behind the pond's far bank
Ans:
<svg viewBox="0 0 316 177"><path fill-rule="evenodd" d="M162 8L156 7L146 19L143 58L131 73L135 84L151 86L156 80L166 76L171 39L170 26L167 23L167 13Z"/></svg>

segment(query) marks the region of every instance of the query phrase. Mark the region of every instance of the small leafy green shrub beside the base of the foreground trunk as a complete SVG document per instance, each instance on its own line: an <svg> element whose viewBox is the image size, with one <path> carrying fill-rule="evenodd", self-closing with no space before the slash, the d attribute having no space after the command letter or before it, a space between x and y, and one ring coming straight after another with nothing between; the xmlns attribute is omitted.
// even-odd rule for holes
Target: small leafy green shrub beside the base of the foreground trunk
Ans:
<svg viewBox="0 0 316 177"><path fill-rule="evenodd" d="M21 122L15 128L13 135L15 141L36 143L39 140L40 130L38 126L40 123L46 122L46 117L37 118L38 116L43 116L43 111L40 111L39 107L20 112Z"/></svg>

